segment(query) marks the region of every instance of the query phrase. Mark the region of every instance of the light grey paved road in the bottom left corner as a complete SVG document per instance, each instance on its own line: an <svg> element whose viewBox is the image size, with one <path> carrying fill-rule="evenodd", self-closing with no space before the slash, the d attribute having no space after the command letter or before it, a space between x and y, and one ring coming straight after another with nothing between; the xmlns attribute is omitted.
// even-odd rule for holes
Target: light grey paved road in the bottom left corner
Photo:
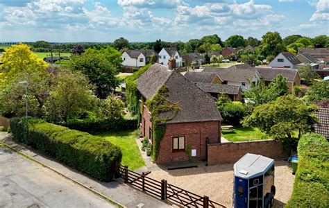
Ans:
<svg viewBox="0 0 329 208"><path fill-rule="evenodd" d="M114 207L87 189L0 146L0 207Z"/></svg>

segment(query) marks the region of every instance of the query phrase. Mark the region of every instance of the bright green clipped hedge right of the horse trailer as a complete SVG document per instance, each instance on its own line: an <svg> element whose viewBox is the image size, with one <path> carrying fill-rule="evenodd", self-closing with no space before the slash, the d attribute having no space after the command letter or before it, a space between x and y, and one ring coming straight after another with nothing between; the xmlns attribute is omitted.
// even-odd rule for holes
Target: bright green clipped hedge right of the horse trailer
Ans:
<svg viewBox="0 0 329 208"><path fill-rule="evenodd" d="M294 191L286 207L329 207L329 145L321 135L308 133L298 142Z"/></svg>

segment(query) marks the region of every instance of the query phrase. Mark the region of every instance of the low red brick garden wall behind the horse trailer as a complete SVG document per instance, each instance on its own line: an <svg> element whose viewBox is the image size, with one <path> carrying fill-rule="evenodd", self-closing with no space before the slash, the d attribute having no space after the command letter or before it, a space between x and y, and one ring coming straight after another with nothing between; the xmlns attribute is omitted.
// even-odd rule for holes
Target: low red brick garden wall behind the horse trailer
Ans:
<svg viewBox="0 0 329 208"><path fill-rule="evenodd" d="M272 159L287 159L282 144L273 140L230 142L208 144L208 164L233 164L246 153L253 153Z"/></svg>

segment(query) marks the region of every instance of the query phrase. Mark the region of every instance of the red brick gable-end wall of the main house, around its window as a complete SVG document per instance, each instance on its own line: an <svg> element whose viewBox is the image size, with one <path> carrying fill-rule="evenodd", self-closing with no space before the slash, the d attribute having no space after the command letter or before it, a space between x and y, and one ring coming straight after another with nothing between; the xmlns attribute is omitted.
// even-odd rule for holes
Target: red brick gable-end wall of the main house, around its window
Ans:
<svg viewBox="0 0 329 208"><path fill-rule="evenodd" d="M172 137L177 136L185 136L185 148L187 144L190 144L192 149L196 149L196 157L193 157L194 160L205 159L206 138L209 138L209 143L218 143L220 125L221 123L219 121L167 124L165 135L161 140L157 164L188 160L185 150L173 152Z"/></svg>

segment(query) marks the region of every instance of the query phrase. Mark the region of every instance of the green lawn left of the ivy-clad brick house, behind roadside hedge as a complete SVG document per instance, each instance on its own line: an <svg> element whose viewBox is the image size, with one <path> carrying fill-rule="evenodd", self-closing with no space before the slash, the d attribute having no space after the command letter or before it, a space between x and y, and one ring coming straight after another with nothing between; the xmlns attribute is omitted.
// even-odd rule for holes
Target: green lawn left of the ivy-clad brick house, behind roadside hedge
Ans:
<svg viewBox="0 0 329 208"><path fill-rule="evenodd" d="M136 170L145 165L135 141L136 132L137 130L104 132L97 134L97 136L103 137L112 142L112 144L119 146L122 151L121 164L128 166L130 170Z"/></svg>

